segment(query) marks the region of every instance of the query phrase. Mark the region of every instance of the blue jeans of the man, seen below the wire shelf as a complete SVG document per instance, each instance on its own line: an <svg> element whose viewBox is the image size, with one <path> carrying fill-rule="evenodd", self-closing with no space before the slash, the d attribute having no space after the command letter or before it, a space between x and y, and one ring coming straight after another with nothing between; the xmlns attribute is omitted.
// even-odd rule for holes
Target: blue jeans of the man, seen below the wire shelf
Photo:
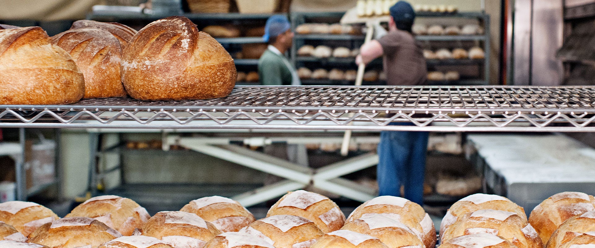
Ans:
<svg viewBox="0 0 595 248"><path fill-rule="evenodd" d="M414 125L390 123L389 125ZM424 197L425 153L428 132L381 131L378 143L377 178L381 196L401 196L422 205Z"/></svg>

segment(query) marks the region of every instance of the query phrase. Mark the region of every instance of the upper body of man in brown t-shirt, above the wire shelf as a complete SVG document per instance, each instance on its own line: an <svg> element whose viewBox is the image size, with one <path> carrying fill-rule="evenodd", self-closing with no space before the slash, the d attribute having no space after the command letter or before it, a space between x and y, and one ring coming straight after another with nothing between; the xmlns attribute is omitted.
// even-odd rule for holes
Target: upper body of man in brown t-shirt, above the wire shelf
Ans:
<svg viewBox="0 0 595 248"><path fill-rule="evenodd" d="M411 33L415 12L408 2L399 1L390 8L390 15L389 33L365 43L356 64L368 64L383 56L387 84L424 84L427 77L424 54Z"/></svg>

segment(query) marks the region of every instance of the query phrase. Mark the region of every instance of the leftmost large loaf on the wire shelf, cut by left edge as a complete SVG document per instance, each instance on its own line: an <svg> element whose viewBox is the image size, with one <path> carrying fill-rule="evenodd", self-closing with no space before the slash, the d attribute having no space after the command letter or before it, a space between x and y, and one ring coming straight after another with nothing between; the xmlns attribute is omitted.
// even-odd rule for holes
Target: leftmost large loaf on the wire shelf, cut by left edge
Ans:
<svg viewBox="0 0 595 248"><path fill-rule="evenodd" d="M79 67L40 27L0 30L0 104L73 103L83 93Z"/></svg>

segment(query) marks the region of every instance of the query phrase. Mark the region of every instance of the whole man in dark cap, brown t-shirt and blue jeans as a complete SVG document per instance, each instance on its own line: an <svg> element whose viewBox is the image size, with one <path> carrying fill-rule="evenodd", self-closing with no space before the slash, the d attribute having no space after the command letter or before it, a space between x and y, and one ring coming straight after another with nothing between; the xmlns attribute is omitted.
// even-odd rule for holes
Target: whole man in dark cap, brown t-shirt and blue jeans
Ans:
<svg viewBox="0 0 595 248"><path fill-rule="evenodd" d="M420 85L427 78L421 47L411 32L415 11L411 4L399 1L390 8L389 32L361 47L356 63L368 64L383 56L389 85ZM379 32L376 32L379 33ZM413 125L390 123L389 125ZM425 156L428 133L419 131L382 131L378 143L377 179L381 196L401 196L422 205Z"/></svg>

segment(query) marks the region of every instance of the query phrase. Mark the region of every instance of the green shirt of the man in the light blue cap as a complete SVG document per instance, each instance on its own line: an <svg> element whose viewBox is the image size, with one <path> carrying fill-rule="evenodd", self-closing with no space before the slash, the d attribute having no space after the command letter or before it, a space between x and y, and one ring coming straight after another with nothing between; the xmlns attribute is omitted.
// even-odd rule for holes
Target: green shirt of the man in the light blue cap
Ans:
<svg viewBox="0 0 595 248"><path fill-rule="evenodd" d="M262 85L292 85L292 71L284 56L267 49L258 60L258 76Z"/></svg>

